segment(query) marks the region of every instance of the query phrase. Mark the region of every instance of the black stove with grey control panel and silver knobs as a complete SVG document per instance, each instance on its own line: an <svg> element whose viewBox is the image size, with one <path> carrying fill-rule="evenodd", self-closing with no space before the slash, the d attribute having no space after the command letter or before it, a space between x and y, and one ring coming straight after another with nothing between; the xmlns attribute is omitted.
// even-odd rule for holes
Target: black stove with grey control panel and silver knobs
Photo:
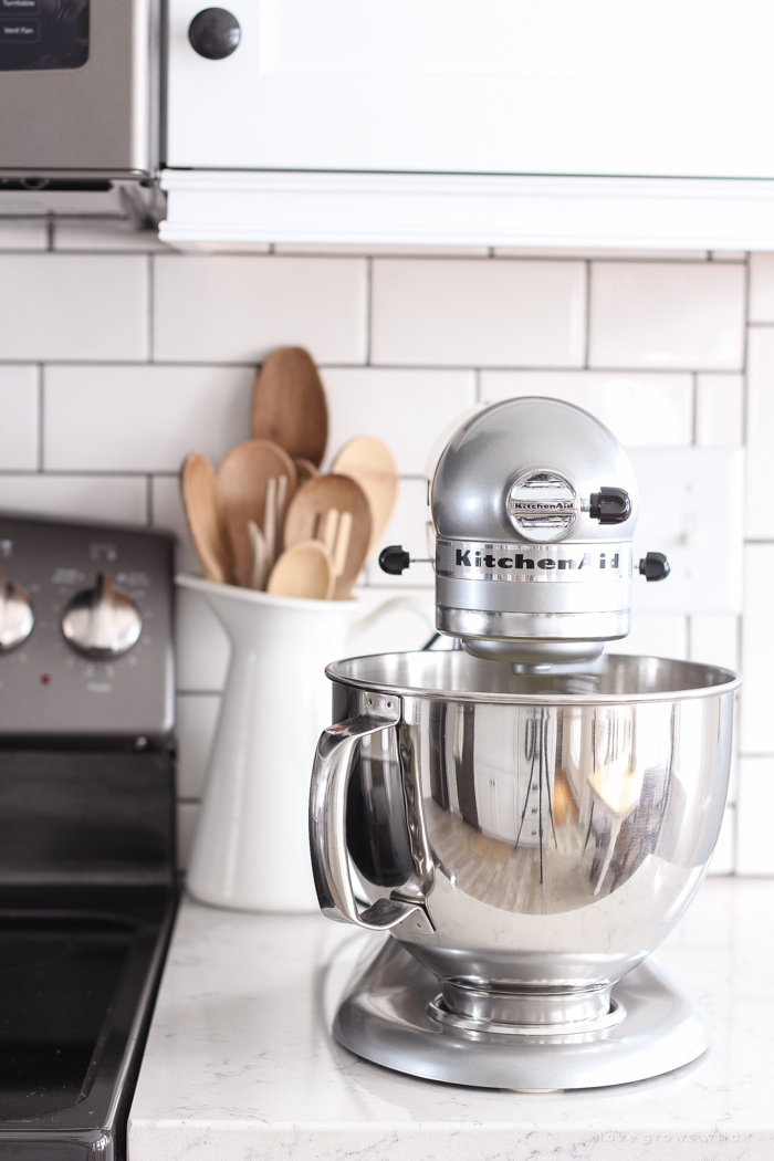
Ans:
<svg viewBox="0 0 774 1161"><path fill-rule="evenodd" d="M176 900L173 543L0 517L0 1158L113 1161Z"/></svg>

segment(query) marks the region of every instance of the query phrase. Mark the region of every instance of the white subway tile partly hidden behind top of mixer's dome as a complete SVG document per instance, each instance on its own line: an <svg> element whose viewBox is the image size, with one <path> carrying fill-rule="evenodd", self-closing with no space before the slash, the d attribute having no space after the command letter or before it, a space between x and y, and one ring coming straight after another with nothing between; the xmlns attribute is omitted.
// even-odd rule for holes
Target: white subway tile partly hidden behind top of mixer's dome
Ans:
<svg viewBox="0 0 774 1161"><path fill-rule="evenodd" d="M692 442L690 375L616 372L484 370L480 398L498 403L542 395L591 411L628 447L674 447Z"/></svg>

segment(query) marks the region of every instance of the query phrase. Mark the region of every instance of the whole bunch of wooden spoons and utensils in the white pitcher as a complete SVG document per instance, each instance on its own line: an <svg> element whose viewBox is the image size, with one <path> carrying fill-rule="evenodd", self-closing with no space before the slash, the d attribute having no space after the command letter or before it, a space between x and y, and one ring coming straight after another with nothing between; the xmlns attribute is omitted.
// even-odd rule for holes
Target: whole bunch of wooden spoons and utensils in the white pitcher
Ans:
<svg viewBox="0 0 774 1161"><path fill-rule="evenodd" d="M186 518L209 580L284 597L349 597L392 514L398 474L389 448L362 437L320 475L327 430L311 355L275 351L255 381L253 439L217 473L201 452L182 467Z"/></svg>

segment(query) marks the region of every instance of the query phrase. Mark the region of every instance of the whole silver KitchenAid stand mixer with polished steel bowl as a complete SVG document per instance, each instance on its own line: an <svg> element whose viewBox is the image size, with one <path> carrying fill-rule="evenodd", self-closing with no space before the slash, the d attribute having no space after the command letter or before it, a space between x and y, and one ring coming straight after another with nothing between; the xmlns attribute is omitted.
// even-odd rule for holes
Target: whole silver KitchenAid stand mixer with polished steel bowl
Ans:
<svg viewBox="0 0 774 1161"><path fill-rule="evenodd" d="M629 632L637 489L578 408L476 414L441 455L432 509L436 626L455 648L326 670L319 903L393 937L334 1036L391 1068L495 1088L674 1069L707 1029L646 957L707 872L740 679L603 651ZM392 546L381 563L410 561ZM658 580L668 563L649 553L638 570Z"/></svg>

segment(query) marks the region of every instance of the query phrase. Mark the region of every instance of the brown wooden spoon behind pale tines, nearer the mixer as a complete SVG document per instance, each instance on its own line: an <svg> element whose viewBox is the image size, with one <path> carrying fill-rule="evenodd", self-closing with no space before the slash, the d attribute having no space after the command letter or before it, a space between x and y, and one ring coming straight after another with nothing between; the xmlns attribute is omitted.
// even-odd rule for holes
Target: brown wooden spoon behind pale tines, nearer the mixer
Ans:
<svg viewBox="0 0 774 1161"><path fill-rule="evenodd" d="M335 532L327 512L339 513ZM345 513L348 518L342 521ZM352 520L352 524L349 524ZM339 528L342 529L339 536ZM348 533L346 551L342 540ZM317 476L301 488L292 498L285 517L285 548L303 540L332 539L337 556L340 557L340 574L337 577L333 597L346 599L360 575L366 560L366 550L371 538L371 513L360 484L348 476ZM339 539L339 546L335 541ZM328 549L330 550L330 549Z"/></svg>

